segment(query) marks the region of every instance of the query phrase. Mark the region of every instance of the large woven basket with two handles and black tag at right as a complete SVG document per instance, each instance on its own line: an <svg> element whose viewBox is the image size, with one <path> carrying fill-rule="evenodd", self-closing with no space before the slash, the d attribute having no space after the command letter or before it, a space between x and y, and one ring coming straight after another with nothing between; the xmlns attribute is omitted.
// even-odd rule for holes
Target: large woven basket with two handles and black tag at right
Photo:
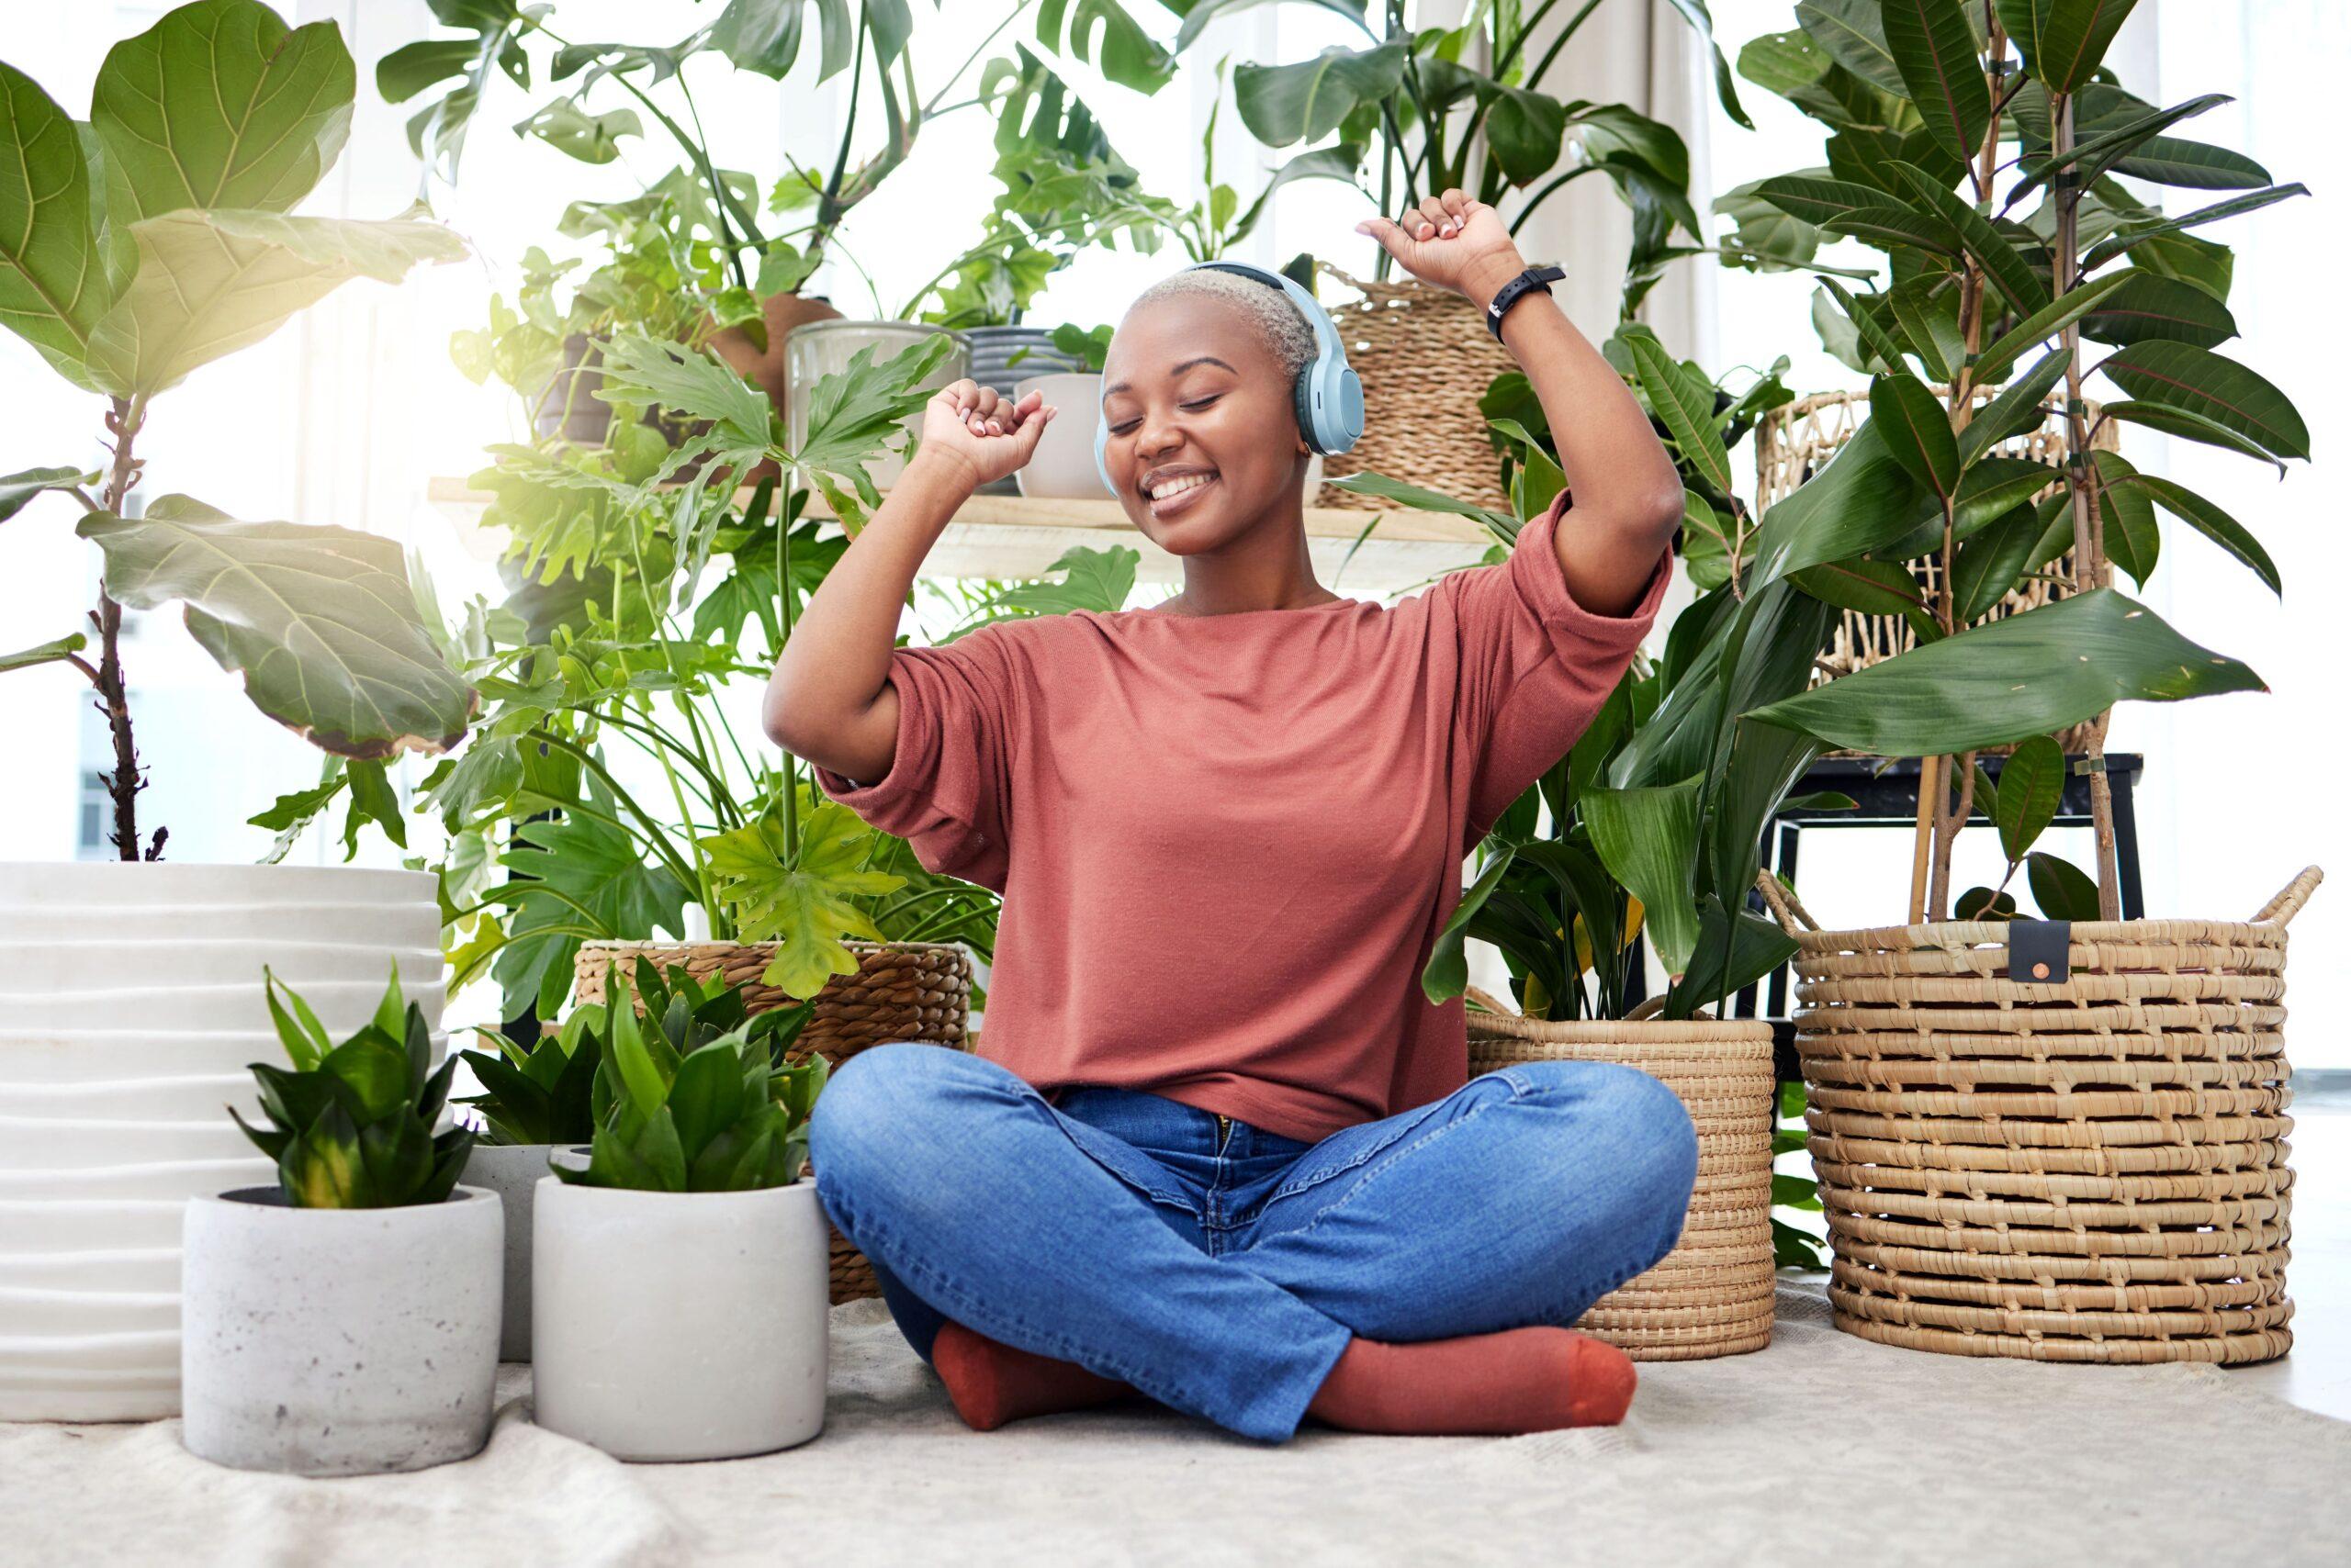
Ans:
<svg viewBox="0 0 2351 1568"><path fill-rule="evenodd" d="M2295 1342L2285 926L2076 922L2062 980L2008 922L1796 938L1806 1147L1836 1326L2034 1361L2266 1361Z"/></svg>

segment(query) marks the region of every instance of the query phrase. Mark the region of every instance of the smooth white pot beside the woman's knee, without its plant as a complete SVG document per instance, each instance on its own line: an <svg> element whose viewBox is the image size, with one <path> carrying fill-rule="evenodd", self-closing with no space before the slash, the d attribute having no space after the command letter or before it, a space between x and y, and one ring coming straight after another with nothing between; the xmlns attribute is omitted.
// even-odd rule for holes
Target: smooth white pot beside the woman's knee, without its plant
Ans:
<svg viewBox="0 0 2351 1568"><path fill-rule="evenodd" d="M816 1182L538 1182L534 1420L618 1460L771 1453L825 1425L830 1260Z"/></svg>

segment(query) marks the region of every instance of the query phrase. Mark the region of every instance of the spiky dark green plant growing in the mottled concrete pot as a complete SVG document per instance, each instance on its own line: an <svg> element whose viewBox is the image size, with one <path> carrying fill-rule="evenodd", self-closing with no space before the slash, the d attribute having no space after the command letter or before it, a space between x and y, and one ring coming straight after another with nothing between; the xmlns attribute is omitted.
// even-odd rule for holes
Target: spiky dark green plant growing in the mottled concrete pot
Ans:
<svg viewBox="0 0 2351 1568"><path fill-rule="evenodd" d="M433 1027L402 1001L400 964L357 1034L336 1044L294 990L261 971L270 1020L292 1070L254 1063L268 1126L228 1110L254 1145L277 1161L277 1185L294 1208L404 1208L440 1204L473 1152L473 1131L433 1131L456 1060L433 1067Z"/></svg>

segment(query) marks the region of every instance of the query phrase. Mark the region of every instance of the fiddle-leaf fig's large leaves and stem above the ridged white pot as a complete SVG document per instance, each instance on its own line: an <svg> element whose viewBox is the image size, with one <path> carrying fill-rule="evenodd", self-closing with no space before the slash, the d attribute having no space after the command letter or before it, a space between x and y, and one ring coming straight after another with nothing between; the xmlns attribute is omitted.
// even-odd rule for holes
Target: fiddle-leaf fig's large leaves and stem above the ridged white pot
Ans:
<svg viewBox="0 0 2351 1568"><path fill-rule="evenodd" d="M125 860L153 860L165 842L139 832L125 609L181 602L261 712L371 771L379 797L386 757L444 750L477 703L390 541L237 522L190 496L132 505L158 395L353 277L397 282L465 254L437 223L292 214L341 153L350 99L336 24L287 28L256 0L195 0L118 42L87 122L0 63L0 322L101 400L113 449L103 470L0 477L0 520L59 491L106 559L92 630L5 654L0 670L61 663L89 679L113 738L106 785Z"/></svg>

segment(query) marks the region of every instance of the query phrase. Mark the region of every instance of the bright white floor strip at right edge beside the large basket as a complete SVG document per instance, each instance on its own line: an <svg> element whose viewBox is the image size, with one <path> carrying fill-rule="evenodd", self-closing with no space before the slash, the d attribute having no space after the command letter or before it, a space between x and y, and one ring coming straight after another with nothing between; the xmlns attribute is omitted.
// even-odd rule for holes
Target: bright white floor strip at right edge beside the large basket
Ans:
<svg viewBox="0 0 2351 1568"><path fill-rule="evenodd" d="M2295 1215L2285 1291L2295 1300L2295 1349L2229 1375L2304 1410L2351 1420L2351 1100L2297 1098Z"/></svg>

